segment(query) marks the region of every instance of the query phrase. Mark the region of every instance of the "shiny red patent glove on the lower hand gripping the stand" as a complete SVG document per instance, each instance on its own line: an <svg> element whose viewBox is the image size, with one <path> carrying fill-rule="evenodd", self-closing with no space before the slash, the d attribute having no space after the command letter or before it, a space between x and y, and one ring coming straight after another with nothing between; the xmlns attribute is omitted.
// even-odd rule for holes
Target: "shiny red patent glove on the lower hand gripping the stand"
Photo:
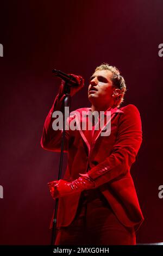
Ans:
<svg viewBox="0 0 163 256"><path fill-rule="evenodd" d="M83 190L89 190L96 187L95 181L91 180L87 176L79 177L72 182L65 180L54 180L48 183L49 190L52 197L60 198L68 194L82 192Z"/></svg>

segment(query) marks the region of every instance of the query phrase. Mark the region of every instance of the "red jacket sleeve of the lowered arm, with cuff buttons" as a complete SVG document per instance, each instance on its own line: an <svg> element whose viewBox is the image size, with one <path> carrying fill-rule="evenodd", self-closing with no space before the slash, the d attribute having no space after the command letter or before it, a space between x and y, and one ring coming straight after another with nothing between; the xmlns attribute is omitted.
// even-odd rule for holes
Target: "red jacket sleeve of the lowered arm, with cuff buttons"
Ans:
<svg viewBox="0 0 163 256"><path fill-rule="evenodd" d="M110 156L87 172L96 182L96 186L101 186L129 172L141 142L140 113L134 105L128 105L120 116L117 138Z"/></svg>

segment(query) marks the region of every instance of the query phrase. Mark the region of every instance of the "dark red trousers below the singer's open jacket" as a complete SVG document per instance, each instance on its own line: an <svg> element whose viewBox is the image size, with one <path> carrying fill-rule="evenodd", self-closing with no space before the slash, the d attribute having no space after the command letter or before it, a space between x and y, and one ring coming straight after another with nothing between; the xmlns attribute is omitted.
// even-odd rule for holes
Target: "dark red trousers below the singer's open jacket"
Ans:
<svg viewBox="0 0 163 256"><path fill-rule="evenodd" d="M63 209L64 211L64 209ZM55 245L135 245L133 228L118 221L98 189L81 194L76 217L57 230Z"/></svg>

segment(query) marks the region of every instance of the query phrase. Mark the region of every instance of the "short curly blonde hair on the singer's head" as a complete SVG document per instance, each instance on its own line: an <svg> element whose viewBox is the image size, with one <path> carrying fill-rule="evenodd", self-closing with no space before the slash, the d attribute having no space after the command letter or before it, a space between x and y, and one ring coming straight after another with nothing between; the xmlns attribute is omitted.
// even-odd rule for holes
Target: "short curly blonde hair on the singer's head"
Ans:
<svg viewBox="0 0 163 256"><path fill-rule="evenodd" d="M112 72L111 81L113 86L121 90L121 95L119 95L116 99L116 106L119 107L121 103L124 101L124 94L126 93L126 82L124 81L123 76L120 75L120 71L115 66L110 66L108 63L102 63L97 66L95 71L97 70L109 70Z"/></svg>

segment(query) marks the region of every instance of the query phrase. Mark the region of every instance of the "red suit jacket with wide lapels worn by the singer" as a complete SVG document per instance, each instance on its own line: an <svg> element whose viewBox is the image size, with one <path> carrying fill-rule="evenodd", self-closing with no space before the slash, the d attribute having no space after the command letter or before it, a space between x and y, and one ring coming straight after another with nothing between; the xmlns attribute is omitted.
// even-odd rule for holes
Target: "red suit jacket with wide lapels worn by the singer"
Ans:
<svg viewBox="0 0 163 256"><path fill-rule="evenodd" d="M62 131L53 130L52 114L61 109L62 103L63 97L57 95L43 127L43 149L60 151ZM68 164L64 179L72 181L79 178L79 174L88 173L108 200L118 220L126 227L134 227L137 230L143 221L143 215L130 175L130 167L142 142L140 113L134 105L109 110L109 136L101 136L102 129L95 130L92 138L92 131L66 131L64 151L68 153ZM75 118L77 123L86 123L87 117L82 116L82 111L89 113L91 108L77 109L67 121ZM80 193L75 193L59 199L57 227L66 227L73 221L79 198Z"/></svg>

